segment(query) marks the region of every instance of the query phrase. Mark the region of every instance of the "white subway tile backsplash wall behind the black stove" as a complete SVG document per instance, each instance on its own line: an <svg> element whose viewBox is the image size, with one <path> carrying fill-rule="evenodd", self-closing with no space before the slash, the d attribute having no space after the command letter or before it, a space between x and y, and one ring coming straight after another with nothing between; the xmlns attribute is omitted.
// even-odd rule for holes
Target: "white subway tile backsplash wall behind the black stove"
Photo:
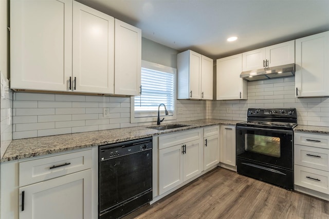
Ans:
<svg viewBox="0 0 329 219"><path fill-rule="evenodd" d="M248 100L210 102L214 119L247 120L252 107L296 108L298 124L329 126L329 98L296 98L295 77L248 82Z"/></svg>

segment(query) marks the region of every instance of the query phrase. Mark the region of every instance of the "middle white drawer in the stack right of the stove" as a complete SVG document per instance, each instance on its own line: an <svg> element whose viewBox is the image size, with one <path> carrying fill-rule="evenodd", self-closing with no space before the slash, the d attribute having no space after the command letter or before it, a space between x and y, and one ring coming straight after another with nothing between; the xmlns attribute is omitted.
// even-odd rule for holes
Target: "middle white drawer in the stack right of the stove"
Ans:
<svg viewBox="0 0 329 219"><path fill-rule="evenodd" d="M329 149L295 144L295 164L329 171Z"/></svg>

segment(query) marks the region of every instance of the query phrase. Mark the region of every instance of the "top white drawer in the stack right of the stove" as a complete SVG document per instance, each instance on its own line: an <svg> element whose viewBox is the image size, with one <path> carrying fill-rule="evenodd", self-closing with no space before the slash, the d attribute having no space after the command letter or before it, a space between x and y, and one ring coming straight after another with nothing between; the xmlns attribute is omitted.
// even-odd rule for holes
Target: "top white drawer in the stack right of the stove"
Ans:
<svg viewBox="0 0 329 219"><path fill-rule="evenodd" d="M294 136L295 144L329 149L328 135L295 132Z"/></svg>

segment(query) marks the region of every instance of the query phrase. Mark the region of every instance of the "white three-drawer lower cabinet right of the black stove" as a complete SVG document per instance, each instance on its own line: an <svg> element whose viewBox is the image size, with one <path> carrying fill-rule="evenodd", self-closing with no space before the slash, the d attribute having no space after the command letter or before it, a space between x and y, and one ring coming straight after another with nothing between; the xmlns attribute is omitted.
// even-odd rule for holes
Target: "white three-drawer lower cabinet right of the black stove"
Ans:
<svg viewBox="0 0 329 219"><path fill-rule="evenodd" d="M295 132L295 190L329 200L329 136Z"/></svg>

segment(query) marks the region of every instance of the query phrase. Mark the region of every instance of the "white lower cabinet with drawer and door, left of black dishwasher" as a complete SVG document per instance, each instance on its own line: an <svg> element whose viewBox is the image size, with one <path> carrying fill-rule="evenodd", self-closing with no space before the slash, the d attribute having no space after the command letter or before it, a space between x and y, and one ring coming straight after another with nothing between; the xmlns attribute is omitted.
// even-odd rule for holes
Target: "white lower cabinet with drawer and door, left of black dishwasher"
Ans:
<svg viewBox="0 0 329 219"><path fill-rule="evenodd" d="M92 150L19 161L19 218L93 218Z"/></svg>

